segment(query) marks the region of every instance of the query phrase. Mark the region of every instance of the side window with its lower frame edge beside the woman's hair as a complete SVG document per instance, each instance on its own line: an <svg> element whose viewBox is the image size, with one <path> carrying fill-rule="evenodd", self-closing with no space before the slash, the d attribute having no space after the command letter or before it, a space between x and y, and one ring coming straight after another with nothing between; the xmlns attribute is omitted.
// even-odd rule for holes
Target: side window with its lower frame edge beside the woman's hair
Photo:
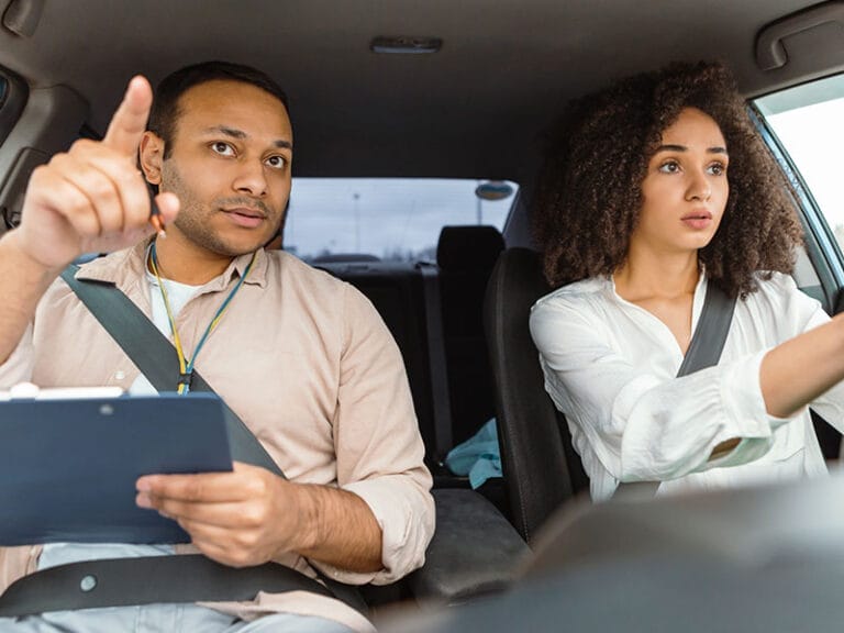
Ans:
<svg viewBox="0 0 844 633"><path fill-rule="evenodd" d="M837 290L844 285L844 75L775 92L753 104L800 196L807 249L818 275L828 292ZM831 303L836 301L831 296L828 299L822 302L833 308Z"/></svg>

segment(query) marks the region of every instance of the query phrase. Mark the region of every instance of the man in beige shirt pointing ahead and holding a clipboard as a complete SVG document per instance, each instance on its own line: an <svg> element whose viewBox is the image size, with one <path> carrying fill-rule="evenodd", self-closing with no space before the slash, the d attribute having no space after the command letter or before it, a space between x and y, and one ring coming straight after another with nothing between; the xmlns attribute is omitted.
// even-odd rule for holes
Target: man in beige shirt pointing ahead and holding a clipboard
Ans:
<svg viewBox="0 0 844 633"><path fill-rule="evenodd" d="M22 224L0 240L0 387L31 379L151 389L56 280L81 253L112 253L77 277L114 282L178 337L186 363L196 363L290 479L240 463L227 474L147 476L137 481L137 504L177 520L192 547L225 565L273 560L353 584L398 579L422 564L433 532L431 476L398 348L352 287L262 248L290 192L284 92L254 69L208 63L159 85L145 131L151 101L149 85L135 77L101 143L78 141L33 174ZM159 189L166 237L149 226L138 156ZM171 549L0 549L0 590L35 568L151 548ZM142 621L186 631L370 626L338 601L303 592L213 609L60 612L18 626L115 630Z"/></svg>

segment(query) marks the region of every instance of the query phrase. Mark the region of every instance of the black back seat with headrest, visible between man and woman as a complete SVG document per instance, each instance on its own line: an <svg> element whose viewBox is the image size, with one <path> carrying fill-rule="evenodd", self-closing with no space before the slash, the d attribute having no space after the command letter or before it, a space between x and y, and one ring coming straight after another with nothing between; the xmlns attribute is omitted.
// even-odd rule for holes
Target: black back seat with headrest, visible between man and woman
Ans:
<svg viewBox="0 0 844 633"><path fill-rule="evenodd" d="M437 247L438 268L401 262L313 263L360 290L396 338L426 462L435 473L442 474L437 467L447 449L493 415L482 299L502 249L503 238L493 226L446 226Z"/></svg>

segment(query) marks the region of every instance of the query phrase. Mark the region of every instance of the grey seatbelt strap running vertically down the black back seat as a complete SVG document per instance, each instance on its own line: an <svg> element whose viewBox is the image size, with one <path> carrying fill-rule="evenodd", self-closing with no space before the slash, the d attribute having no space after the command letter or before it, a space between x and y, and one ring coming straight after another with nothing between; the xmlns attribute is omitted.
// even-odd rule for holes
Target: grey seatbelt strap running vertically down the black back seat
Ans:
<svg viewBox="0 0 844 633"><path fill-rule="evenodd" d="M427 367L434 404L435 458L442 464L452 448L452 399L448 393L448 364L445 360L443 308L440 295L440 271L436 266L419 262L422 290L425 297L425 330L427 332Z"/></svg>

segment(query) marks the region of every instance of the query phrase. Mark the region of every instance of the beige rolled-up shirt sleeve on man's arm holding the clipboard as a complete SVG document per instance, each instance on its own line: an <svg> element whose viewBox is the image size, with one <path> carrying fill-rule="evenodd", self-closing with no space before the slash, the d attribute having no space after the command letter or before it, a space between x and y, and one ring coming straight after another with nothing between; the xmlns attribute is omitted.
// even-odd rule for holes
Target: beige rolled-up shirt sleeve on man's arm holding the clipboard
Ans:
<svg viewBox="0 0 844 633"><path fill-rule="evenodd" d="M337 485L371 510L381 529L384 568L357 574L314 564L344 582L386 585L424 564L434 532L432 480L396 342L371 303L354 289L347 289L345 310L334 422Z"/></svg>

